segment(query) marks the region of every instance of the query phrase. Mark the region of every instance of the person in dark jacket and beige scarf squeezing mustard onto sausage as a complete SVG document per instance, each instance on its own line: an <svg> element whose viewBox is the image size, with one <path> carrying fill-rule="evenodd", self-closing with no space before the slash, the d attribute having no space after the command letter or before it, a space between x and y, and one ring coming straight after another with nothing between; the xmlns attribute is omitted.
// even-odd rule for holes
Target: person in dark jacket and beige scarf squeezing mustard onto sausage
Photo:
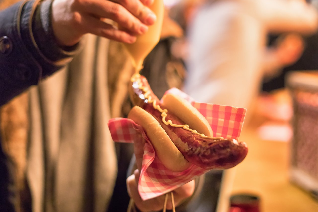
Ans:
<svg viewBox="0 0 318 212"><path fill-rule="evenodd" d="M1 3L0 211L107 211L117 174L109 39L132 43L147 31L151 1ZM140 201L130 179L138 207L162 208L161 198ZM176 203L194 183L178 189Z"/></svg>

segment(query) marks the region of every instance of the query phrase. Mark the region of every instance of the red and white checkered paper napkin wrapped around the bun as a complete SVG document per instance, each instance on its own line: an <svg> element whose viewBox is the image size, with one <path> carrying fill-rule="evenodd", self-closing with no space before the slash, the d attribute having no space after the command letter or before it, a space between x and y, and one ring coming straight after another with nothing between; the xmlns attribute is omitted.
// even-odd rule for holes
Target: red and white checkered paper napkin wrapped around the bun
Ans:
<svg viewBox="0 0 318 212"><path fill-rule="evenodd" d="M212 127L213 137L239 139L246 109L195 102L177 88L171 88L167 93L183 97L201 112ZM108 122L108 127L115 142L141 142L142 138L146 140L138 182L138 191L143 200L166 194L209 171L193 164L183 172L170 171L156 157L142 127L131 119L112 118Z"/></svg>

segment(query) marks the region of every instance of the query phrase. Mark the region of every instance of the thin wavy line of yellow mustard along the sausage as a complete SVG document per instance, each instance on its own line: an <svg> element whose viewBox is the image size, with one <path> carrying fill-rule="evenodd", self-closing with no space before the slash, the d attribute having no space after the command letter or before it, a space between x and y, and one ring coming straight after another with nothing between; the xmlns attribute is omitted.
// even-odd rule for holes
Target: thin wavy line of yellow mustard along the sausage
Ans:
<svg viewBox="0 0 318 212"><path fill-rule="evenodd" d="M187 130L187 131L190 131L192 132L192 134L196 134L196 135L199 135L201 138L206 138L206 139L213 139L213 140L220 140L220 139L224 139L223 137L218 137L218 138L215 138L215 137L210 137L210 136L205 136L204 134L201 134L201 133L198 133L196 130L191 130L189 128L189 125L188 124L183 124L183 125L180 125L180 124L173 124L172 121L169 119L168 121L166 121L166 117L167 117L167 113L168 113L168 110L167 109L162 109L160 107L160 105L157 105L156 104L156 100L155 99L152 99L151 98L151 95L150 95L150 90L147 88L147 87L143 87L142 86L142 82L141 82L141 79L140 79L140 74L134 74L132 77L131 77L131 81L132 82L137 82L138 83L138 88L141 89L143 92L144 92L144 97L145 99L148 100L148 103L151 104L152 103L152 106L154 107L154 109L158 110L159 112L161 112L161 116L162 116L162 122L166 125L171 125L173 127L180 127L180 128L183 128L184 130Z"/></svg>

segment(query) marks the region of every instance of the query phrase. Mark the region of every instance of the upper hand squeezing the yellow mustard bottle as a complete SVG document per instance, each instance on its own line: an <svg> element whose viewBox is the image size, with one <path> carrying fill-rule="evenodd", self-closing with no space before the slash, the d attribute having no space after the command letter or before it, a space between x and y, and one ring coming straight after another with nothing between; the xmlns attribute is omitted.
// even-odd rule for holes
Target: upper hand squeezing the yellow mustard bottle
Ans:
<svg viewBox="0 0 318 212"><path fill-rule="evenodd" d="M55 0L52 27L60 45L73 46L86 33L134 43L136 35L147 32L156 15L148 8L153 0ZM121 29L106 23L109 19Z"/></svg>

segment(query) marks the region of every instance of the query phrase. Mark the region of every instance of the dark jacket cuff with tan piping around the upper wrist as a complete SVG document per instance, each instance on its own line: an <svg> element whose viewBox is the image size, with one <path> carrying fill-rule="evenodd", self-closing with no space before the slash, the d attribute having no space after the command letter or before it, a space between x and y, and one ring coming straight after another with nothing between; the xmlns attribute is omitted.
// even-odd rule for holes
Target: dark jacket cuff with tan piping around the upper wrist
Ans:
<svg viewBox="0 0 318 212"><path fill-rule="evenodd" d="M22 40L40 63L41 78L64 67L79 51L78 45L63 49L56 43L51 25L51 7L51 0L27 2L20 19Z"/></svg>

